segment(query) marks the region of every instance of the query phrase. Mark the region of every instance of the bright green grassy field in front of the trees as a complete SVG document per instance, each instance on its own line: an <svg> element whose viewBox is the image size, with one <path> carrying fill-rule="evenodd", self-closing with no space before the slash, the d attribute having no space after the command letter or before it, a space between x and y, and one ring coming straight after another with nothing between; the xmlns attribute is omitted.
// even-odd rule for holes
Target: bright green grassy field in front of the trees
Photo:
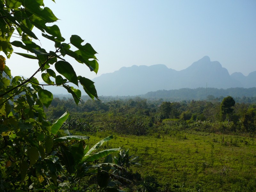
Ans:
<svg viewBox="0 0 256 192"><path fill-rule="evenodd" d="M105 136L108 134L91 136L89 145ZM139 172L146 182L149 178L149 183L153 178L156 191L256 190L256 145L252 138L202 132L177 132L160 139L115 135L101 148L118 147L130 148L131 155L140 157L141 166L133 166L132 172Z"/></svg>

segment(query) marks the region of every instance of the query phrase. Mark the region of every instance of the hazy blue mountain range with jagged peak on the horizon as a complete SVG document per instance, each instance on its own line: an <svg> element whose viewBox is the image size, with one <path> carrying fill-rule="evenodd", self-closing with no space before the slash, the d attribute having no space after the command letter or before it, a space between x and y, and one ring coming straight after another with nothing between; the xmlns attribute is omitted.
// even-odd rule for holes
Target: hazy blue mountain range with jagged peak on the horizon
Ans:
<svg viewBox="0 0 256 192"><path fill-rule="evenodd" d="M255 87L256 71L244 76L234 73L231 76L218 61L208 56L192 63L188 68L176 71L158 64L152 66L122 67L113 73L94 78L98 95L128 96L141 95L157 90L181 88L212 87L228 89L231 87Z"/></svg>

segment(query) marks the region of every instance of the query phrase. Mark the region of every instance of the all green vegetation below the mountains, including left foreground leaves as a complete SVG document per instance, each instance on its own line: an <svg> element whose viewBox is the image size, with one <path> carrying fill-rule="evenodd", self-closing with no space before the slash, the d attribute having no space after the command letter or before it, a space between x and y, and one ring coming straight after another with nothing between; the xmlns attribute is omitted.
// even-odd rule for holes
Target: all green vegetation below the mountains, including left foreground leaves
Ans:
<svg viewBox="0 0 256 192"><path fill-rule="evenodd" d="M99 99L94 84L64 58L97 73L92 46L76 35L65 43L43 0L0 6L1 191L255 190L255 104L232 97L83 101L71 84ZM52 51L36 44L33 28ZM28 79L13 77L5 65L12 46L39 65ZM53 99L47 86L62 86L73 99Z"/></svg>

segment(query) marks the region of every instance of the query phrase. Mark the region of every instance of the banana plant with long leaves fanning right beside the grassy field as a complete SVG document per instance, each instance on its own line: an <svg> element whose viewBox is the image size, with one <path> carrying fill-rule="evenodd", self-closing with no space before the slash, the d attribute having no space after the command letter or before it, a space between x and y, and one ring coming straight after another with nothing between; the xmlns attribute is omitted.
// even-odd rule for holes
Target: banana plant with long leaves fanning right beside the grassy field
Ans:
<svg viewBox="0 0 256 192"><path fill-rule="evenodd" d="M72 184L73 189L79 185L79 181L89 175L98 174L98 177L104 176L104 167L116 167L116 169L122 169L121 166L113 163L97 164L99 160L104 160L110 154L116 153L121 148L112 148L93 153L100 146L112 139L113 135L106 137L96 143L91 149L85 144L84 140L89 139L85 136L65 136L53 140L54 145L59 145L59 151L57 156L59 157L60 164L65 168L66 175L64 180L68 179L68 185ZM100 182L101 183L101 182ZM62 188L63 188L62 184ZM101 185L101 184L99 184ZM70 186L68 187L70 188Z"/></svg>

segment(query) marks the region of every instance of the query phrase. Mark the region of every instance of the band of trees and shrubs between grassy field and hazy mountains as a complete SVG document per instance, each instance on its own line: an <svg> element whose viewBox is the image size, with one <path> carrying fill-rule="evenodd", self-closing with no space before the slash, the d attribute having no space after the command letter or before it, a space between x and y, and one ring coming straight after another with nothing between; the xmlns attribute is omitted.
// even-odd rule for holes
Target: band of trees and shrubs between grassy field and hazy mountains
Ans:
<svg viewBox="0 0 256 192"><path fill-rule="evenodd" d="M230 96L221 102L171 102L137 97L86 100L78 105L71 99L54 98L46 114L54 119L66 110L71 117L69 126L63 128L85 132L147 135L168 133L170 130L195 130L254 135L256 131L256 104L235 102ZM71 126L72 121L74 126Z"/></svg>

